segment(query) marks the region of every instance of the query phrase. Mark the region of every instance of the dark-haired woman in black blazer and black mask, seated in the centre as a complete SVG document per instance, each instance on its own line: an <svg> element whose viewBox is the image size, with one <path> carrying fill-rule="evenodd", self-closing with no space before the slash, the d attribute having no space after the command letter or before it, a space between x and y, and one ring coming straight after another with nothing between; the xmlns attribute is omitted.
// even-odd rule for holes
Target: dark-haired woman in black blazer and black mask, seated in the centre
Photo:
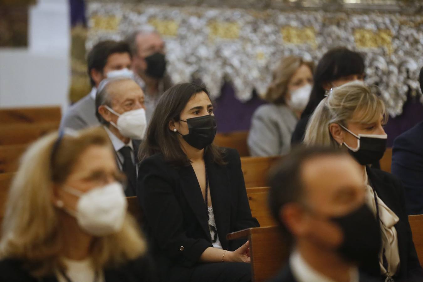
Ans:
<svg viewBox="0 0 423 282"><path fill-rule="evenodd" d="M217 148L208 90L183 83L159 100L140 148L137 197L162 281L250 281L248 242L258 227L236 150Z"/></svg>

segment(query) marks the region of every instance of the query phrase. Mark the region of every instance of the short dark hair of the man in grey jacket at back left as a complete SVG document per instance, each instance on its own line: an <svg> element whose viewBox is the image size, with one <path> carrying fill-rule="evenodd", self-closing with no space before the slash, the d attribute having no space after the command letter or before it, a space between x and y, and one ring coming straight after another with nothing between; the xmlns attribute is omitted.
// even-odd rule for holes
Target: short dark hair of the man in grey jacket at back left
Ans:
<svg viewBox="0 0 423 282"><path fill-rule="evenodd" d="M100 41L91 49L87 55L88 76L90 77L91 86L96 85L91 77L91 70L103 71L107 64L107 59L114 53L128 53L131 57L129 45L125 41L106 40Z"/></svg>

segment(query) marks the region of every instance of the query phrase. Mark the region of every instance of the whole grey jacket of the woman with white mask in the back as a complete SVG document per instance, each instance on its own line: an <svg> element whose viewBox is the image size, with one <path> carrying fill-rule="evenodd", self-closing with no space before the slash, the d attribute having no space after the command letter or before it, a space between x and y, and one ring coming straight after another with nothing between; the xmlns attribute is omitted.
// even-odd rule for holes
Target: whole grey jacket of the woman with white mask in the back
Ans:
<svg viewBox="0 0 423 282"><path fill-rule="evenodd" d="M289 152L297 117L286 105L258 107L251 120L248 148L251 156L279 156Z"/></svg>

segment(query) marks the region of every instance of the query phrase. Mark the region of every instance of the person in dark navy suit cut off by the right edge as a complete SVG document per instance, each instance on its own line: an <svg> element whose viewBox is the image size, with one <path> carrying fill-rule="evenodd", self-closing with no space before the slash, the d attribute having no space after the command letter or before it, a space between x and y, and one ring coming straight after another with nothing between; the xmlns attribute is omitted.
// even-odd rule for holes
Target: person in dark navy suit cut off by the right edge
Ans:
<svg viewBox="0 0 423 282"><path fill-rule="evenodd" d="M423 68L420 70L423 91ZM423 121L394 140L392 174L404 184L407 213L423 214Z"/></svg>

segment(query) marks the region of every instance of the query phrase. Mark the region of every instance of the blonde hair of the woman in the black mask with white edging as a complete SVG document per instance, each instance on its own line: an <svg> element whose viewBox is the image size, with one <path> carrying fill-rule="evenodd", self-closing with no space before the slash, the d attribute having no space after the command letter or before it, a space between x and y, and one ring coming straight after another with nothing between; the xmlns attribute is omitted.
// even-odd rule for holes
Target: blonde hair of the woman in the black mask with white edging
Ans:
<svg viewBox="0 0 423 282"><path fill-rule="evenodd" d="M356 113L360 114L353 120ZM338 148L339 144L330 134L331 123L346 126L347 121L372 123L380 115L387 120L385 104L363 82L354 81L334 88L311 115L305 130L304 144L308 146L330 146Z"/></svg>

